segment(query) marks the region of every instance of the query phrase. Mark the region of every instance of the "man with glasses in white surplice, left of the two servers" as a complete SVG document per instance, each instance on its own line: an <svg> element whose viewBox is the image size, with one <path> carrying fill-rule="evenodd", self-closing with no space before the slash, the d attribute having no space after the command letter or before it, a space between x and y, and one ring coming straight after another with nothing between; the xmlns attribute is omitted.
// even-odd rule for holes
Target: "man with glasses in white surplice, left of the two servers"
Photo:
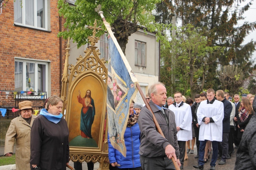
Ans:
<svg viewBox="0 0 256 170"><path fill-rule="evenodd" d="M169 106L169 109L175 114L175 123L177 126L177 138L178 145L180 148L180 162L181 167L183 169L183 162L185 157L186 150L186 141L192 139L192 131L191 131L191 122L192 122L192 114L190 105L184 103L182 100L181 92L177 91L174 93L175 103Z"/></svg>

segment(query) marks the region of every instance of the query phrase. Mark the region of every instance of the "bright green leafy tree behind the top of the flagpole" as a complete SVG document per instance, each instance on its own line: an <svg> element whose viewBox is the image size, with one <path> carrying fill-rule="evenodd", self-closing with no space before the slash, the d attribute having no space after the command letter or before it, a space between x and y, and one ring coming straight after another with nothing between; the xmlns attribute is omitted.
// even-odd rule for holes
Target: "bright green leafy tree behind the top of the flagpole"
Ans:
<svg viewBox="0 0 256 170"><path fill-rule="evenodd" d="M140 27L144 26L148 31L157 31L165 27L163 24L155 24L154 16L151 14L157 2L160 0L76 0L73 6L65 0L59 0L59 14L66 19L64 26L67 30L60 32L58 36L65 39L71 37L76 41L78 48L86 44L87 37L91 35L86 26L93 25L95 19L98 19L98 25L104 28L100 16L94 10L101 4L101 11L104 12L106 21L110 23L118 44L125 53L128 37ZM98 36L103 33L99 31ZM157 35L161 36L160 33Z"/></svg>

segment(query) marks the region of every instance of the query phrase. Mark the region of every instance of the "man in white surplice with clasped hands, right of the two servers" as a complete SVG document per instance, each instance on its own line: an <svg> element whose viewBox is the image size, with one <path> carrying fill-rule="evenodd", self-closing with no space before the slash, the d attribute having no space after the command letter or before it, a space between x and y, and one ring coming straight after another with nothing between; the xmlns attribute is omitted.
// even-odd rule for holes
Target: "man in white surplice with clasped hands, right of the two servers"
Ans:
<svg viewBox="0 0 256 170"><path fill-rule="evenodd" d="M222 120L224 118L224 106L221 101L214 98L215 91L207 90L207 100L200 103L197 109L197 120L199 130L199 160L194 168L203 169L204 148L207 140L212 141L212 160L210 170L215 170L215 163L218 156L218 141L222 141Z"/></svg>

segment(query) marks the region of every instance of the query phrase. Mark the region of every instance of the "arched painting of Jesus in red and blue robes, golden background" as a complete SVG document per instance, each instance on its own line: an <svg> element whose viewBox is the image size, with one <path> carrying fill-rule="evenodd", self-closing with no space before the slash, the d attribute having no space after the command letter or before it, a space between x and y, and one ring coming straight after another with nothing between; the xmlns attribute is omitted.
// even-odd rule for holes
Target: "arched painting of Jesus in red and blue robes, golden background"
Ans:
<svg viewBox="0 0 256 170"><path fill-rule="evenodd" d="M104 131L105 84L89 74L71 90L69 107L69 146L99 148Z"/></svg>

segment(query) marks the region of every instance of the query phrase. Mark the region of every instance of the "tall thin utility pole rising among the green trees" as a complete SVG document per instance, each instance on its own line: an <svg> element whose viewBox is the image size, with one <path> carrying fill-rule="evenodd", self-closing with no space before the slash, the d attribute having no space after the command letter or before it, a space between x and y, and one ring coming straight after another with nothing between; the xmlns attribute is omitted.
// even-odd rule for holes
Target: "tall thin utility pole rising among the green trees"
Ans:
<svg viewBox="0 0 256 170"><path fill-rule="evenodd" d="M172 40L174 40L174 38L176 36L175 27L176 27L176 16L172 16ZM174 69L175 69L175 47L174 47L174 44L172 43L172 67L171 67L172 94L174 93L173 86L174 86L174 82L175 82Z"/></svg>

